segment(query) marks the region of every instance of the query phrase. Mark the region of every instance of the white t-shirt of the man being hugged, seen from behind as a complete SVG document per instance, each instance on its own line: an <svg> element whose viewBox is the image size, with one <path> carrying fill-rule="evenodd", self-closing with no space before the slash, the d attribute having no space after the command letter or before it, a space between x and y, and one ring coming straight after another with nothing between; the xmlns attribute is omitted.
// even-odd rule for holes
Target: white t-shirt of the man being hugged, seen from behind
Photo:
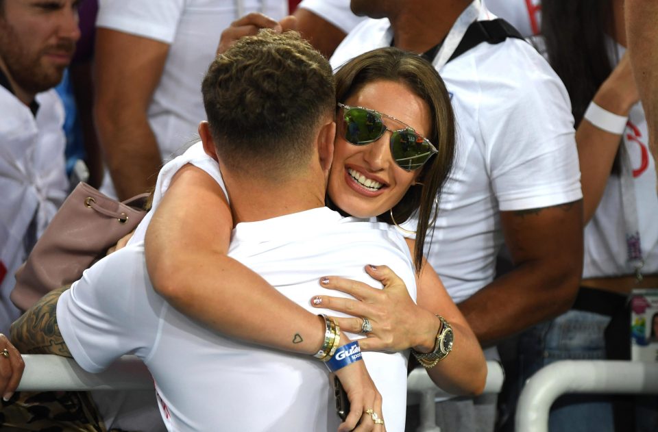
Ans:
<svg viewBox="0 0 658 432"><path fill-rule="evenodd" d="M219 166L212 170L219 172ZM313 314L341 316L310 307L313 295L346 296L322 288L320 277L341 275L372 284L363 270L367 262L391 266L411 297L416 296L409 248L395 229L342 218L326 207L240 223L233 231L229 255ZM152 288L143 242L86 270L60 297L57 317L69 350L85 370L103 370L124 354L145 361L170 431L338 427L328 371L321 361L224 338L175 311ZM404 431L408 354L364 353L384 398L388 431Z"/></svg>

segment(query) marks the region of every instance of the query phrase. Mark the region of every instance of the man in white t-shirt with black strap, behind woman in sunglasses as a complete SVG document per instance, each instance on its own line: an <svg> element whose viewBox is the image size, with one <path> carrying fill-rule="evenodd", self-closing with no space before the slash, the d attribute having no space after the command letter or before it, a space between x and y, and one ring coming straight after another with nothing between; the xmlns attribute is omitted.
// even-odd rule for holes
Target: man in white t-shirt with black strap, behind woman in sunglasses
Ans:
<svg viewBox="0 0 658 432"><path fill-rule="evenodd" d="M492 346L568 310L583 260L582 194L560 79L517 38L452 58L470 25L492 18L479 0L352 0L351 7L371 19L339 45L334 68L394 45L424 53L452 95L456 161L427 258L480 343ZM503 244L515 268L493 281ZM439 404L442 429L493 429L493 404L459 404Z"/></svg>

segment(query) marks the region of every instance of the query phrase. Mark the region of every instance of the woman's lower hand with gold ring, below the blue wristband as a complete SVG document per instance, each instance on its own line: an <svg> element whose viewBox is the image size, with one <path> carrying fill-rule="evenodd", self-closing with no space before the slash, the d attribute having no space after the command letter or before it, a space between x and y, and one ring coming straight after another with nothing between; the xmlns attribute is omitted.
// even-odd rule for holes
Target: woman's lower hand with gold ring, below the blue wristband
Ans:
<svg viewBox="0 0 658 432"><path fill-rule="evenodd" d="M382 418L382 395L375 387L365 363L356 361L337 370L336 376L350 400L350 413L339 425L338 431L386 431L385 424L374 424L373 416L366 412L371 410L378 418Z"/></svg>

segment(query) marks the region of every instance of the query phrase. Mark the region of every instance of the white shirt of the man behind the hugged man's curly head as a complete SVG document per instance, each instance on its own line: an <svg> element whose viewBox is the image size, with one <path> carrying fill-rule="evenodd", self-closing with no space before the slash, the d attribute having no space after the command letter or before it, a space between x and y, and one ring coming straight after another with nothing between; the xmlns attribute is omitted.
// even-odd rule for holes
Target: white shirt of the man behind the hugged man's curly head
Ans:
<svg viewBox="0 0 658 432"><path fill-rule="evenodd" d="M240 6L238 8L237 6ZM221 32L249 12L280 19L285 0L100 0L97 27L169 44L160 83L149 106L149 124L163 161L180 154L206 118L201 83L215 58ZM110 177L103 192L114 194Z"/></svg>

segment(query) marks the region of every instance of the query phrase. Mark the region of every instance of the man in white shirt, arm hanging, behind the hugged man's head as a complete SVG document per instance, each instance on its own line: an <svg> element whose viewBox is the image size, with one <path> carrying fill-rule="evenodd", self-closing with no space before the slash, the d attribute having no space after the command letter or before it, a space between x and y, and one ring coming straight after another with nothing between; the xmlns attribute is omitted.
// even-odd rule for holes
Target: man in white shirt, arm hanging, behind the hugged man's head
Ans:
<svg viewBox="0 0 658 432"><path fill-rule="evenodd" d="M206 66L223 29L249 12L280 19L288 2L99 1L95 118L109 170L103 192L126 199L149 190L162 162L195 138Z"/></svg>

